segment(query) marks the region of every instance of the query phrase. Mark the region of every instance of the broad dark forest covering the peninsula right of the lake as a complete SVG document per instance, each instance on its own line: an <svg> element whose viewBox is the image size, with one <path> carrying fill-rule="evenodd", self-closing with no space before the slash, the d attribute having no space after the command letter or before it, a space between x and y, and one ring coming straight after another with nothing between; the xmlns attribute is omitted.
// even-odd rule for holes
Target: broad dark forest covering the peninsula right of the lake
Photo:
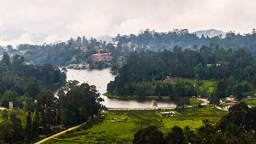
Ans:
<svg viewBox="0 0 256 144"><path fill-rule="evenodd" d="M199 93L202 80L218 80L219 98L255 90L256 59L245 47L239 49L203 45L200 50L175 46L173 51L134 51L127 55L119 75L108 84L107 91L116 95L184 97ZM163 82L167 77L180 78L175 84ZM184 79L196 79L196 86ZM252 93L253 94L253 93Z"/></svg>

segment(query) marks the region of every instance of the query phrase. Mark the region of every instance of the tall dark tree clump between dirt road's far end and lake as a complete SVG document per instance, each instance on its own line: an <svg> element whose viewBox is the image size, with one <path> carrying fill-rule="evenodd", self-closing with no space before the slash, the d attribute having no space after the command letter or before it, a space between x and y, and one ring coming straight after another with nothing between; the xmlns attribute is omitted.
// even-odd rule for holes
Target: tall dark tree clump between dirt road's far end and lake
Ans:
<svg viewBox="0 0 256 144"><path fill-rule="evenodd" d="M94 114L98 115L98 110L102 107L96 86L87 83L78 86L76 80L68 81L66 87L58 91L59 105L64 113L62 125L80 124Z"/></svg>

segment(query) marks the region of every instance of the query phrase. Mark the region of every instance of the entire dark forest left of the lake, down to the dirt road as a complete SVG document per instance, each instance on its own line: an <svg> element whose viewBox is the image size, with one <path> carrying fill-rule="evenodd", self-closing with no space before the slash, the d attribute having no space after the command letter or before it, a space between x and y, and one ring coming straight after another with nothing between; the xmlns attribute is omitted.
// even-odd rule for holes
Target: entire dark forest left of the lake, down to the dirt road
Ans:
<svg viewBox="0 0 256 144"><path fill-rule="evenodd" d="M13 102L12 110L0 111L0 143L32 143L38 135L60 131L60 125L77 125L93 118L102 107L96 87L79 86L76 80L66 82L65 68L50 63L27 65L19 55L11 62L6 52L0 64L0 106L9 108ZM58 98L41 88L54 83L66 83Z"/></svg>

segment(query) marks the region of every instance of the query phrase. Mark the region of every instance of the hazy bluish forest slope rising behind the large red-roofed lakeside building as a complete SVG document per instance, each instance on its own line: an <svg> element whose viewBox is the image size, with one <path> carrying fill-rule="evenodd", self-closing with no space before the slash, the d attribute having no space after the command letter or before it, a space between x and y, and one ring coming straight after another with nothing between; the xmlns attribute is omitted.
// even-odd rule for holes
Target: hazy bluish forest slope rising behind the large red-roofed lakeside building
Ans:
<svg viewBox="0 0 256 144"><path fill-rule="evenodd" d="M82 47L85 47L85 51L82 51ZM18 51L24 52L24 59L26 62L33 62L34 64L67 64L70 62L72 57L76 57L74 63L88 63L92 64L91 55L97 53L97 48L102 48L101 53L108 52L112 53L112 57L123 56L124 52L121 53L112 45L97 41L96 38L91 38L87 40L83 36L82 40L78 36L77 40L71 38L67 43L62 42L59 44L44 44L44 45L31 45L31 44L20 44L17 46Z"/></svg>

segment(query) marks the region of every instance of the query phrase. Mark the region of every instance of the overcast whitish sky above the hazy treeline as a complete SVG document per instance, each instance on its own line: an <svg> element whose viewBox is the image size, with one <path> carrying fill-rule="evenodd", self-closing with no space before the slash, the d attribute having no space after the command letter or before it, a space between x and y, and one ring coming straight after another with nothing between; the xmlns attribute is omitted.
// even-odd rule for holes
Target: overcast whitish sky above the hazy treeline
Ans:
<svg viewBox="0 0 256 144"><path fill-rule="evenodd" d="M256 0L2 0L0 45L173 29L250 33Z"/></svg>

